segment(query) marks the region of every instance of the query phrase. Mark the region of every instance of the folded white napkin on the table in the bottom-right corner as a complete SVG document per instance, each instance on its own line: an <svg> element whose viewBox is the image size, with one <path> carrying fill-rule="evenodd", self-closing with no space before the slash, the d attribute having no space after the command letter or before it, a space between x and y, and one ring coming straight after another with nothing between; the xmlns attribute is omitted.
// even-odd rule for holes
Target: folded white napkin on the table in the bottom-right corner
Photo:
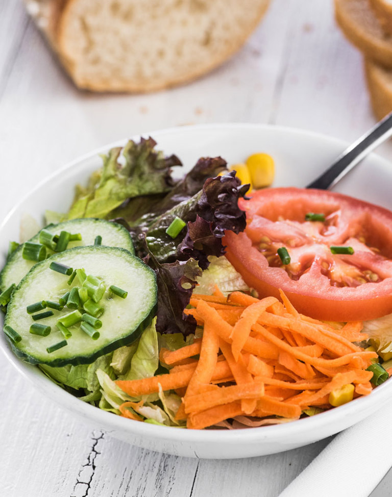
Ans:
<svg viewBox="0 0 392 497"><path fill-rule="evenodd" d="M392 465L392 403L339 433L279 497L368 497Z"/></svg>

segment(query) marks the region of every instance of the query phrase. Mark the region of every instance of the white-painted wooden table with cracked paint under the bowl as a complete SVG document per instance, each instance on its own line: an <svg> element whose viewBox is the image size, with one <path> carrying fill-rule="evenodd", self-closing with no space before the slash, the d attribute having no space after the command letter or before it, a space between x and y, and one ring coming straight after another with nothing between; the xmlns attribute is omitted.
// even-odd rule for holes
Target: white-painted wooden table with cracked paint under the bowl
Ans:
<svg viewBox="0 0 392 497"><path fill-rule="evenodd" d="M41 178L92 148L159 128L229 121L347 141L373 125L361 57L336 28L331 0L273 0L227 64L190 85L136 96L76 90L20 0L0 0L0 218ZM379 153L392 159L392 145ZM254 459L166 456L92 431L1 355L0 371L4 497L276 497L329 441ZM390 495L391 484L389 471L372 497Z"/></svg>

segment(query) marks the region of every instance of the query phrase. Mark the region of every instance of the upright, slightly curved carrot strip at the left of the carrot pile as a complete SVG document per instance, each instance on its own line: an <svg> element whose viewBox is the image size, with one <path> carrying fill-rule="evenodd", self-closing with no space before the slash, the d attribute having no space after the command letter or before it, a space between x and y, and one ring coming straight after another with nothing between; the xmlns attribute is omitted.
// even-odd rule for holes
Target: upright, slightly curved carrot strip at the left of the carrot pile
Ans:
<svg viewBox="0 0 392 497"><path fill-rule="evenodd" d="M185 397L199 393L200 385L211 381L219 352L219 337L209 322L205 322L199 362L189 380Z"/></svg>

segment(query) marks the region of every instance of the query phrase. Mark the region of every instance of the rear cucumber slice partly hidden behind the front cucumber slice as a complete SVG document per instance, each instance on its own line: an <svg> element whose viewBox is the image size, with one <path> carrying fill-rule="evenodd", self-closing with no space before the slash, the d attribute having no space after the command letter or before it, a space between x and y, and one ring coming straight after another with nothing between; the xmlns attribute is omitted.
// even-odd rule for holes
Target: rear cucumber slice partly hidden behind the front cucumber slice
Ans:
<svg viewBox="0 0 392 497"><path fill-rule="evenodd" d="M58 225L46 226L45 230L50 231L54 235L59 235L62 231L82 235L82 240L71 241L68 243L68 248L77 246L93 245L97 235L102 236L102 244L110 247L126 248L131 254L134 254L133 243L130 234L116 222L106 221L105 219L72 219L70 221L60 222ZM39 243L38 232L30 242ZM0 291L6 290L13 283L18 285L20 280L27 275L35 262L27 261L22 257L23 244L21 244L15 252L12 253L0 273ZM53 251L47 249L47 253L53 254Z"/></svg>

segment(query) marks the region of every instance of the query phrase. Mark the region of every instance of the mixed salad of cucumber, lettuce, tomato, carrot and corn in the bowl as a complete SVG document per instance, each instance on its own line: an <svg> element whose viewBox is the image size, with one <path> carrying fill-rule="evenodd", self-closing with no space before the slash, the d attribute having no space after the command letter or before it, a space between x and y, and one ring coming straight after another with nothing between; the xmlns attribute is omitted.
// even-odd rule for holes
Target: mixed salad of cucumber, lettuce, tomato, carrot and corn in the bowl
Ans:
<svg viewBox="0 0 392 497"><path fill-rule="evenodd" d="M271 185L254 154L181 166L152 138L103 157L67 213L10 242L14 353L70 394L178 428L286 423L392 372L392 213Z"/></svg>

